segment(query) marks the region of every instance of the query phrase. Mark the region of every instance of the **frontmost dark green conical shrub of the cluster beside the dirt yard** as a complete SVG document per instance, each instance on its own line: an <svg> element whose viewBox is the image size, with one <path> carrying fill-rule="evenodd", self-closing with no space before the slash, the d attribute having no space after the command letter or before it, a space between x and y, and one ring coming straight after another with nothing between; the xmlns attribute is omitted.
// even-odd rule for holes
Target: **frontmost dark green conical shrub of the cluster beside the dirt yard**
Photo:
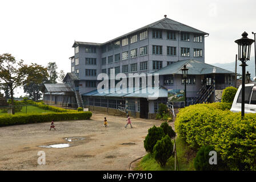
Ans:
<svg viewBox="0 0 256 182"><path fill-rule="evenodd" d="M155 160L164 167L167 160L173 153L173 143L168 135L166 135L161 140L158 140L153 148L153 155Z"/></svg>

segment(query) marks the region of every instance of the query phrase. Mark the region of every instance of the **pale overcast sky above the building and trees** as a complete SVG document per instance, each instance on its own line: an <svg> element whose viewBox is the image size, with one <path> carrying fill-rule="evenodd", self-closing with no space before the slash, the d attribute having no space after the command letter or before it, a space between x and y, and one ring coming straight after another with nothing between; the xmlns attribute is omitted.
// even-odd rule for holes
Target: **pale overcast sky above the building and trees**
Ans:
<svg viewBox="0 0 256 182"><path fill-rule="evenodd" d="M243 31L256 32L256 1L225 0L0 0L0 54L70 72L74 40L104 43L164 18L209 33L206 63L234 61ZM254 51L251 56L254 56Z"/></svg>

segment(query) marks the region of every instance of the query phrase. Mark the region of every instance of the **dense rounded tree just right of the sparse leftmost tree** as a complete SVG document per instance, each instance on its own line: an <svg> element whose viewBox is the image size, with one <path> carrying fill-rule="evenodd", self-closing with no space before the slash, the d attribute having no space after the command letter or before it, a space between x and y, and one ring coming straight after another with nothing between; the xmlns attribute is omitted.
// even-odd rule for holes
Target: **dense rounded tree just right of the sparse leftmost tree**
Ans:
<svg viewBox="0 0 256 182"><path fill-rule="evenodd" d="M43 82L46 82L48 77L47 68L41 65L31 64L27 67L27 78L23 83L23 90L29 94L29 98L32 98L33 101L41 98Z"/></svg>

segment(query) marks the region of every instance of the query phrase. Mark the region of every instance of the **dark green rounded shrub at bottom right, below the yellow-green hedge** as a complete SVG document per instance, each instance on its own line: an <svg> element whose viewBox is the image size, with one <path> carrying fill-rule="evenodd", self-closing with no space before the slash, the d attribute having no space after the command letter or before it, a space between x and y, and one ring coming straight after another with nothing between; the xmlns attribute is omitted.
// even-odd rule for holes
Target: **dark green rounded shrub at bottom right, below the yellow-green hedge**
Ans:
<svg viewBox="0 0 256 182"><path fill-rule="evenodd" d="M217 164L210 164L210 151L215 151L213 146L202 146L194 159L194 167L197 171L222 171L227 169L221 156L217 153Z"/></svg>

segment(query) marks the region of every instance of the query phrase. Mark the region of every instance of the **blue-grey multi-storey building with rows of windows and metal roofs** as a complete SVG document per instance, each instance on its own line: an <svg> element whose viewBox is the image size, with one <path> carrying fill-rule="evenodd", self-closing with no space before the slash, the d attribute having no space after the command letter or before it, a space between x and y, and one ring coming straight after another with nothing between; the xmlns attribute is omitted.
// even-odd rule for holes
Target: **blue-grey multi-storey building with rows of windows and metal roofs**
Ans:
<svg viewBox="0 0 256 182"><path fill-rule="evenodd" d="M189 68L187 100L215 101L216 89L233 85L234 76L233 72L205 64L207 36L206 32L165 17L105 43L74 42L71 73L65 82L75 90L74 97L79 100L82 96L90 109L115 113L118 107L125 107L139 117L151 118L159 103L182 101L181 68L186 64ZM150 100L150 93L98 93L97 76L110 75L111 68L115 74L158 73L159 88L154 89L161 93L159 98Z"/></svg>

